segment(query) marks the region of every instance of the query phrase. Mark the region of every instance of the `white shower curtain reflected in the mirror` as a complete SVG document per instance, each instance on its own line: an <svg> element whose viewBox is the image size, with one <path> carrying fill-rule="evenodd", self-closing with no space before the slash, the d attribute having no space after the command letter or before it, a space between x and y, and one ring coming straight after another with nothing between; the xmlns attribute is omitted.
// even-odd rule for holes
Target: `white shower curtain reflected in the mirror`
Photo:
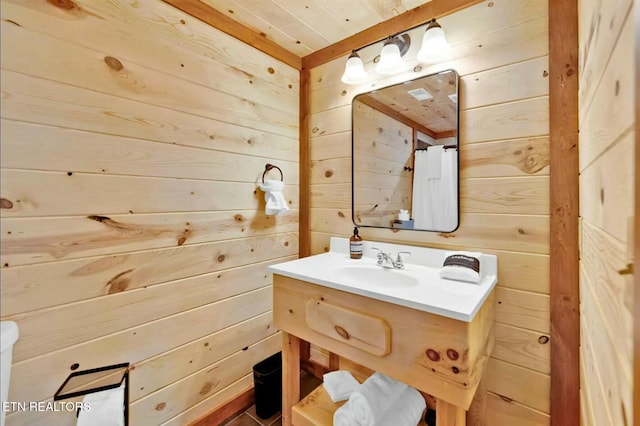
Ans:
<svg viewBox="0 0 640 426"><path fill-rule="evenodd" d="M440 231L454 229L458 223L457 148L436 145L416 150L414 156L414 226Z"/></svg>

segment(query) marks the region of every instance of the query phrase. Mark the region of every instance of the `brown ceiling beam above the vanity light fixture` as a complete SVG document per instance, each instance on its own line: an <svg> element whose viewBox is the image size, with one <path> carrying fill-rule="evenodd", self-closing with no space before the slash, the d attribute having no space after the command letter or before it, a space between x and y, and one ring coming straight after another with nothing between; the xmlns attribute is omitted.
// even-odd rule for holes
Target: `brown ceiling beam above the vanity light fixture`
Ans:
<svg viewBox="0 0 640 426"><path fill-rule="evenodd" d="M390 35L407 31L410 28L426 24L431 19L442 18L443 16L450 15L483 1L484 0L432 0L429 3L408 10L395 18L369 27L364 31L360 31L331 46L327 46L303 57L302 67L305 69L315 68L344 56L353 50L384 40Z"/></svg>

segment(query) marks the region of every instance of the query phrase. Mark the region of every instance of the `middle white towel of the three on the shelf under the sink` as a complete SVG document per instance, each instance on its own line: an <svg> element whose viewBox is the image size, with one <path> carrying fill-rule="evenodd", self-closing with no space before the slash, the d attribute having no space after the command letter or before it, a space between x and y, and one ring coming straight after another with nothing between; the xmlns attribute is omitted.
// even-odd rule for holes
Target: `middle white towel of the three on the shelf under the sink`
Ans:
<svg viewBox="0 0 640 426"><path fill-rule="evenodd" d="M402 382L382 373L373 373L349 397L348 404L353 410L355 425L381 425L380 421L386 411L406 388L407 385Z"/></svg>

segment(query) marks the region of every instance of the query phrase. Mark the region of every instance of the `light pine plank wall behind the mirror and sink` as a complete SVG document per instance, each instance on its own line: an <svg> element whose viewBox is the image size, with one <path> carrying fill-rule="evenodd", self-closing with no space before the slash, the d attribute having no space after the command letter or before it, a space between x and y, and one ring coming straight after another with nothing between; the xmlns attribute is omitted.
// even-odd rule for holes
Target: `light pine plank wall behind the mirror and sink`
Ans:
<svg viewBox="0 0 640 426"><path fill-rule="evenodd" d="M340 82L346 57L311 70L311 246L348 236L351 100L447 68L461 75L461 225L452 234L362 229L365 239L498 255L496 346L485 380L485 410L470 424L549 424L548 9L539 0L483 2L439 20L453 58L375 78L380 46L360 54L370 81ZM422 30L423 31L423 30ZM413 32L413 40L422 31ZM331 170L333 173L325 173ZM323 351L312 348L322 360ZM475 411L474 411L475 413Z"/></svg>

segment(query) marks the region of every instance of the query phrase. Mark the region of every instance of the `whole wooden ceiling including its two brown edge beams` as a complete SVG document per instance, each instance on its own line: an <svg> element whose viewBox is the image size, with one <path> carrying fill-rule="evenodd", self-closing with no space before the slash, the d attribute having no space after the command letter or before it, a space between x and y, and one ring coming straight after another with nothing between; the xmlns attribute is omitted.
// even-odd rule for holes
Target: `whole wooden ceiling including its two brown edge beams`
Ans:
<svg viewBox="0 0 640 426"><path fill-rule="evenodd" d="M484 0L163 1L300 70Z"/></svg>

